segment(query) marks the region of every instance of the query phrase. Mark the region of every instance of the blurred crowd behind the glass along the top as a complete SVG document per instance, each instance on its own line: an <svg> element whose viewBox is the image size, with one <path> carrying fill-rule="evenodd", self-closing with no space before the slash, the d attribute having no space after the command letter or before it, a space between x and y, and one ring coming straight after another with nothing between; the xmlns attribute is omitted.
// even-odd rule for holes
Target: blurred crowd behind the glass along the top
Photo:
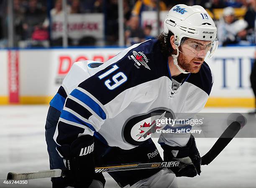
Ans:
<svg viewBox="0 0 256 188"><path fill-rule="evenodd" d="M0 48L8 46L8 1L0 0ZM170 10L174 5L201 5L214 18L220 45L254 45L256 0L123 0L125 45L156 34L156 24L142 23L144 11ZM101 38L69 37L69 46L117 46L118 0L67 0L67 14L103 15ZM62 46L62 37L52 37L52 19L63 15L62 0L13 0L14 47ZM160 30L161 32L161 30Z"/></svg>

